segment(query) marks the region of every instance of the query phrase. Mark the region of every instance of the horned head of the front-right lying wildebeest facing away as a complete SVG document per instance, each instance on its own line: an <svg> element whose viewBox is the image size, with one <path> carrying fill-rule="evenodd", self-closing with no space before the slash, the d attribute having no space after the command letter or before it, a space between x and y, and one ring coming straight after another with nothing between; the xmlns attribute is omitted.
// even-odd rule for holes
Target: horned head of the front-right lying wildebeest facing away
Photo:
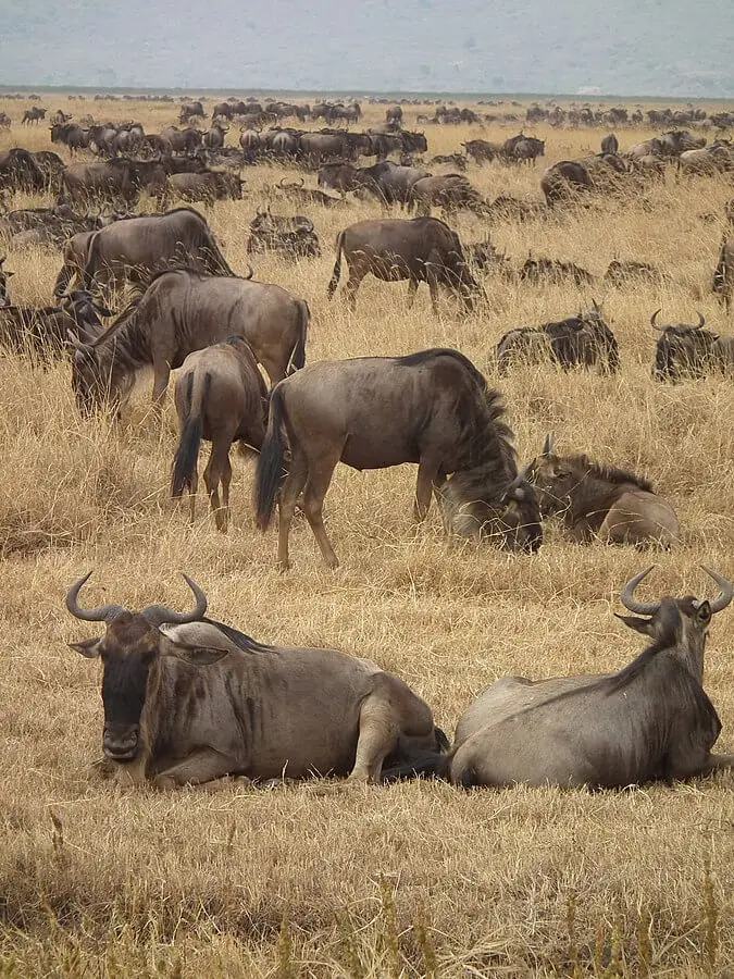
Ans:
<svg viewBox="0 0 734 979"><path fill-rule="evenodd" d="M709 623L717 612L726 608L731 603L734 597L734 587L723 575L707 568L706 565L701 565L704 571L719 586L719 595L714 599L695 598L693 595L687 595L685 598L664 596L657 602L640 602L635 598L635 590L650 573L652 567L655 566L635 574L622 590L622 604L630 611L635 612L635 616L620 616L615 612L617 618L621 619L630 629L650 636L658 647L675 647L687 654L685 656L686 666L702 683L704 647Z"/></svg>

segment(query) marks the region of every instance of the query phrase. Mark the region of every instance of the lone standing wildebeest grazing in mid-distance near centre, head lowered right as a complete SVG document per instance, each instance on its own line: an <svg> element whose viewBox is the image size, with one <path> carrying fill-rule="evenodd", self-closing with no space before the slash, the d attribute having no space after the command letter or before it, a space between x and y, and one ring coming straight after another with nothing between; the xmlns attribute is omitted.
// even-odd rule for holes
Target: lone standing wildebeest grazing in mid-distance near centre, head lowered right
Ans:
<svg viewBox="0 0 734 979"><path fill-rule="evenodd" d="M352 310L357 289L370 272L383 282L408 280L408 306L412 306L419 283L425 282L437 312L438 286L458 294L470 312L482 288L472 275L456 232L436 218L384 218L359 221L339 232L336 262L327 295L334 295L341 274L341 255L349 265L344 295Z"/></svg>

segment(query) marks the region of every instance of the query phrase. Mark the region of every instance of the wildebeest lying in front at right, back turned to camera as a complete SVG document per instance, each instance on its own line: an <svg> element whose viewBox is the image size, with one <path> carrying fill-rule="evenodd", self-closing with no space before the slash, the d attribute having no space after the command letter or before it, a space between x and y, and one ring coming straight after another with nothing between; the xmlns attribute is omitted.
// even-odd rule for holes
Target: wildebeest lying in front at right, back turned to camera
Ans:
<svg viewBox="0 0 734 979"><path fill-rule="evenodd" d="M624 585L622 603L634 617L618 618L652 642L620 672L501 677L463 712L448 756L425 753L418 764L386 768L386 779L434 773L466 788L624 789L734 766L734 755L711 753L721 721L704 690L706 636L734 588L701 567L720 590L712 602L639 602L635 590L651 568Z"/></svg>

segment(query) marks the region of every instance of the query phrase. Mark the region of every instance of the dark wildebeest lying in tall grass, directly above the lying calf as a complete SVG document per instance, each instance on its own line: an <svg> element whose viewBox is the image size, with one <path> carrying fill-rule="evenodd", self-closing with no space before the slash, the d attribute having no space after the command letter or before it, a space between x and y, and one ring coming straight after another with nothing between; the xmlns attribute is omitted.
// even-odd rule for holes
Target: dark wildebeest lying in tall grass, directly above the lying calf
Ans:
<svg viewBox="0 0 734 979"><path fill-rule="evenodd" d="M506 374L515 360L550 361L563 370L598 365L602 373L617 371L620 363L617 338L596 302L588 312L580 312L577 317L510 330L497 344L500 374Z"/></svg>

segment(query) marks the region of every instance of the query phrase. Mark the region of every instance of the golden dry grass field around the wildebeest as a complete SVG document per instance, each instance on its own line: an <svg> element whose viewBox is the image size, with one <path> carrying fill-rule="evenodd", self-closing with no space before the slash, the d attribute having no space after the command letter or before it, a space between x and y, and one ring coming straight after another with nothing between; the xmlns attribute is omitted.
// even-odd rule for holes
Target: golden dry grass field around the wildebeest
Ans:
<svg viewBox="0 0 734 979"><path fill-rule="evenodd" d="M45 104L57 102L101 120L132 116L146 132L177 114L177 106L142 102ZM15 121L0 150L51 148L47 126L21 128L24 108L0 99ZM382 120L384 108L369 107L362 125ZM419 111L433 110L409 108L407 126ZM426 129L430 158L518 126ZM483 195L539 199L540 164L596 150L602 135L527 131L547 139L545 159L534 169L470 164ZM228 141L237 135L233 126ZM625 149L654 134L618 135ZM236 272L246 269L264 185L284 173L293 171L246 169L246 198L204 211ZM662 307L665 322L695 322L700 309L712 327L734 332L710 293L721 222L699 216L721 215L733 195L731 178L677 183L671 171L644 200L493 226L515 267L532 248L599 277L614 257L652 262L670 277L580 292L488 276L488 306L469 318L449 299L434 318L425 286L409 311L405 283L372 278L356 314L338 293L327 302L336 234L378 216L374 202L325 210L274 200L274 213L312 218L323 256L295 265L256 256L253 264L259 278L309 302L309 361L458 347L503 392L521 459L552 430L559 448L646 474L675 506L683 541L654 556L644 595L700 596L711 588L701 561L734 578L734 388L723 377L654 382L649 318ZM464 241L488 231L473 215L456 227ZM7 265L17 302L51 300L58 255L11 250ZM496 376L492 351L502 333L571 315L592 296L620 343L618 376L550 367ZM187 605L186 571L213 617L263 642L333 646L399 673L449 734L498 676L612 671L643 648L612 612L647 555L564 543L552 524L532 557L451 548L435 512L420 529L412 523L410 466L361 474L338 467L326 519L341 567L324 568L297 520L294 569L277 573L274 530L253 528L251 462L233 454L226 536L203 494L194 526L169 499L171 401L162 436L148 382L121 426L83 420L69 363L40 370L0 359L0 975L733 975L732 773L597 793L428 782L155 793L90 777L101 754L100 668L67 647L95 633L64 608L66 588L89 569L88 604L132 608ZM711 629L706 687L723 723L718 747L734 752L731 608Z"/></svg>

